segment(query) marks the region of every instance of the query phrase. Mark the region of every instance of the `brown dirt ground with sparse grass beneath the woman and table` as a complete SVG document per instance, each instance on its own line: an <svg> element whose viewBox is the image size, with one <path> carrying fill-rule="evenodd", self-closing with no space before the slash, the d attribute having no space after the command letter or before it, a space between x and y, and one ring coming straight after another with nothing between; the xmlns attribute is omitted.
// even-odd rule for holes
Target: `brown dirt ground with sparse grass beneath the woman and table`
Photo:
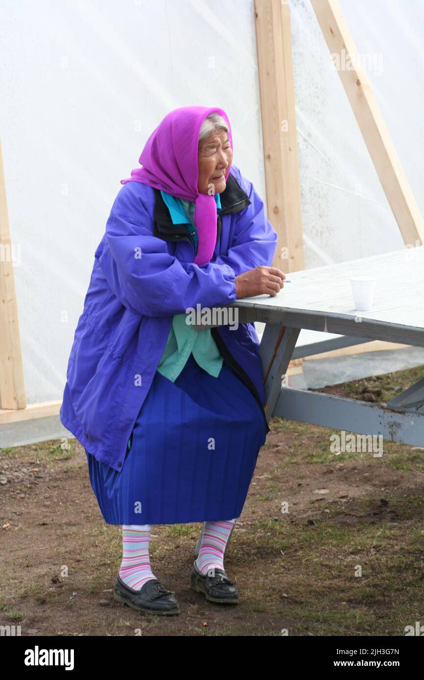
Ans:
<svg viewBox="0 0 424 680"><path fill-rule="evenodd" d="M323 391L382 403L420 377L424 367ZM103 521L75 439L69 451L0 449L0 625L26 636L403 636L424 623L424 449L331 452L340 432L270 425L225 558L240 605L189 588L200 524L152 528L152 570L176 592L178 617L113 599L120 527Z"/></svg>

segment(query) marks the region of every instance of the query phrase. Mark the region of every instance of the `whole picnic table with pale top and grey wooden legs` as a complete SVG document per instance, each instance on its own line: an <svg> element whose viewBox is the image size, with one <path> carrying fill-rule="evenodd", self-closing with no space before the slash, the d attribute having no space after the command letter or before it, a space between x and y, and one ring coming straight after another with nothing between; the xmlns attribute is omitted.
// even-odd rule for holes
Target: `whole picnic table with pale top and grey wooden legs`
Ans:
<svg viewBox="0 0 424 680"><path fill-rule="evenodd" d="M376 276L372 311L354 309L350 276L357 275ZM370 340L424 347L424 246L304 269L287 278L290 283L274 297L259 295L229 305L238 309L239 323L265 323L259 354L267 421L277 415L424 447L424 379L386 407L289 387L285 380L292 358L338 347ZM221 324L196 328L216 325ZM296 346L301 329L320 331L325 339ZM204 524L195 555L203 529Z"/></svg>

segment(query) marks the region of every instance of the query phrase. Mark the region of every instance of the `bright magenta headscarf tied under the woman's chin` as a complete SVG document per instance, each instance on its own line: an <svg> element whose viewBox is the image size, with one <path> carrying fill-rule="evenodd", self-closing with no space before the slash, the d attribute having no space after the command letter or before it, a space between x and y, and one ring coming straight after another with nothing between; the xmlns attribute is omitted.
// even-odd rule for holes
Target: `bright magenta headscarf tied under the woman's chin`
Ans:
<svg viewBox="0 0 424 680"><path fill-rule="evenodd" d="M231 127L223 109L206 106L183 106L169 112L152 132L138 162L143 167L131 170L125 182L142 182L161 189L178 199L195 203L193 220L197 229L197 253L193 262L204 265L210 261L216 243L216 203L211 194L197 190L199 166L197 148L199 132L206 116L216 112L228 126L228 137L233 148ZM229 168L225 174L228 179Z"/></svg>

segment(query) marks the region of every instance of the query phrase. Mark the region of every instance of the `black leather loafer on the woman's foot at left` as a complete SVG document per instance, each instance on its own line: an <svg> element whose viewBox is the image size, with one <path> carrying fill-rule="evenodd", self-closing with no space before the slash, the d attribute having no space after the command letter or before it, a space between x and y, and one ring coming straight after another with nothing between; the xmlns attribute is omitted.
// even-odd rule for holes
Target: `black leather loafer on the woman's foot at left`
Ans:
<svg viewBox="0 0 424 680"><path fill-rule="evenodd" d="M142 585L140 590L133 590L118 575L114 587L114 598L123 605L150 614L172 616L180 613L180 605L172 591L164 588L157 579L150 579Z"/></svg>

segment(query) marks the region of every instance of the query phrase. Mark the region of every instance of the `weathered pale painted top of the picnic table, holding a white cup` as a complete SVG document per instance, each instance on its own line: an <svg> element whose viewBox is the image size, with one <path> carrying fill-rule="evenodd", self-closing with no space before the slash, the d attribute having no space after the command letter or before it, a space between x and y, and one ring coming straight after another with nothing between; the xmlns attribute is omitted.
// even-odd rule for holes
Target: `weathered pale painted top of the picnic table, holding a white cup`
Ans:
<svg viewBox="0 0 424 680"><path fill-rule="evenodd" d="M356 311L350 276L373 274L372 311ZM424 246L296 271L274 297L233 303L240 323L271 322L424 347Z"/></svg>

